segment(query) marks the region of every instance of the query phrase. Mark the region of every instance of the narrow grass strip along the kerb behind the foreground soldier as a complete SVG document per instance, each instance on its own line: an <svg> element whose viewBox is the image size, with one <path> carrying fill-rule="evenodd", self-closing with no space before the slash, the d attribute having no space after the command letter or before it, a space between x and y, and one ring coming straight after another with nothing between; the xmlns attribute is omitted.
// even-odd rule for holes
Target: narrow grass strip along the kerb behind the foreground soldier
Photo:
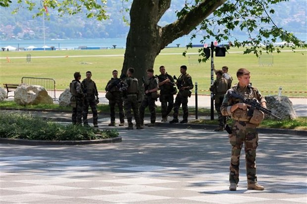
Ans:
<svg viewBox="0 0 307 204"><path fill-rule="evenodd" d="M211 121L211 120L200 119L200 120L191 121L190 123L218 125L218 120L215 119ZM232 120L229 120L228 124L231 124L231 123L232 123ZM281 121L266 119L260 123L259 127L307 130L307 118L302 117L302 118L297 118L294 120L281 120Z"/></svg>

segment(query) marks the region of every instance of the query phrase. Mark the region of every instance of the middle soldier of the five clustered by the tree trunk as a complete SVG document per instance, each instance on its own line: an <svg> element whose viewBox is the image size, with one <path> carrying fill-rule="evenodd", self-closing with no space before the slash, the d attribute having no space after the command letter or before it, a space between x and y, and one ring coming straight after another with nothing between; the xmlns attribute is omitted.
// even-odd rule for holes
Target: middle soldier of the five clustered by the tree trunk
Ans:
<svg viewBox="0 0 307 204"><path fill-rule="evenodd" d="M140 106L140 120L141 125L144 125L144 114L145 109L148 106L151 112L151 123L147 124L147 126L154 126L155 124L155 100L157 99L153 94L156 94L157 90L159 90L159 81L156 77L153 76L153 69L147 70L148 79L143 84L145 87L145 96Z"/></svg>

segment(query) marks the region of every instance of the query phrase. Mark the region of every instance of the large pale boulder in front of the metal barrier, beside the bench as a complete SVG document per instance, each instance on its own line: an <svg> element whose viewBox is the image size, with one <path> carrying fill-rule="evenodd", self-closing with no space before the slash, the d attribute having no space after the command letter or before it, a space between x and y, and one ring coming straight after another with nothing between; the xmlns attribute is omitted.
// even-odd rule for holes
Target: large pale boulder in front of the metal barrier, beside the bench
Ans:
<svg viewBox="0 0 307 204"><path fill-rule="evenodd" d="M14 101L19 105L53 104L53 100L43 86L20 84L14 94Z"/></svg>

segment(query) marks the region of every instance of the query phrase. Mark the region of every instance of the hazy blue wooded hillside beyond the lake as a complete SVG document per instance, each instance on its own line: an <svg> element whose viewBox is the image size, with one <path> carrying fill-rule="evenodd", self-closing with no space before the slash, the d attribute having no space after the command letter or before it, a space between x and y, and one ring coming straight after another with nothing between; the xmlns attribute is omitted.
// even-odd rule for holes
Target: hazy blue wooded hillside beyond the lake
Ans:
<svg viewBox="0 0 307 204"><path fill-rule="evenodd" d="M108 20L97 21L88 19L84 14L59 17L56 11L49 9L50 20L45 20L47 39L95 39L126 37L129 27L123 22L122 2L107 1ZM176 19L176 10L182 8L181 0L173 0L171 8L162 17L160 24L166 25ZM19 13L11 14L16 7L13 3L9 8L0 7L0 38L8 39L42 39L43 17L32 18L35 10L28 11L20 8ZM305 0L290 0L274 6L275 14L272 18L278 26L293 33L307 33ZM126 13L126 15L128 15ZM127 16L129 17L129 16ZM233 35L240 35L239 30Z"/></svg>

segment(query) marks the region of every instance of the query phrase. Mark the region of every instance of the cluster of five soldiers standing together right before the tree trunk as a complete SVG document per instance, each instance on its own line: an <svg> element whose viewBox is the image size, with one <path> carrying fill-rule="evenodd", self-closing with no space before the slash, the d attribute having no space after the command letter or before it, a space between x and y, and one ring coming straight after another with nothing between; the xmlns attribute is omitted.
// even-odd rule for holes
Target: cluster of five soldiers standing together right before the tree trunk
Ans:
<svg viewBox="0 0 307 204"><path fill-rule="evenodd" d="M187 74L187 66L180 67L181 75L176 82L174 78L167 74L165 67L160 66L160 75L154 75L153 69L147 70L147 78L143 78L144 97L139 100L140 87L139 81L134 77L134 69L129 68L126 76L118 78L118 72L112 72L113 78L108 81L105 90L106 98L109 100L110 118L109 126L115 126L115 105L117 104L119 110L119 126L124 125L124 116L126 115L128 126L126 129L133 129L132 111L136 122L137 129L143 129L144 125L154 126L156 121L155 101L157 99L161 102L161 122L167 122L167 117L172 110L174 110L173 120L170 123L179 122L178 112L182 105L183 120L181 123L188 122L188 97L191 96L191 89L193 89L192 78ZM174 95L179 91L174 103ZM140 105L139 105L140 102ZM151 113L151 122L144 124L145 109L149 107ZM124 114L125 110L125 114Z"/></svg>

